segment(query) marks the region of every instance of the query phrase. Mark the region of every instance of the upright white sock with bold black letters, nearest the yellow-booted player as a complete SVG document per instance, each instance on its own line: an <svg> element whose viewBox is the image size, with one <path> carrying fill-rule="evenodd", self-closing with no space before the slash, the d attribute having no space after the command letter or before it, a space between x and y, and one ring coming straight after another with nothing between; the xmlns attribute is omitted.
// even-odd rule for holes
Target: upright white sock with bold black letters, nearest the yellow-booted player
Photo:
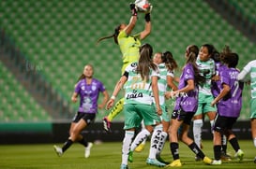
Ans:
<svg viewBox="0 0 256 169"><path fill-rule="evenodd" d="M156 159L158 143L159 143L161 132L162 132L162 124L159 124L158 126L155 127L154 132L151 136L149 156L148 156L148 158L150 159Z"/></svg>

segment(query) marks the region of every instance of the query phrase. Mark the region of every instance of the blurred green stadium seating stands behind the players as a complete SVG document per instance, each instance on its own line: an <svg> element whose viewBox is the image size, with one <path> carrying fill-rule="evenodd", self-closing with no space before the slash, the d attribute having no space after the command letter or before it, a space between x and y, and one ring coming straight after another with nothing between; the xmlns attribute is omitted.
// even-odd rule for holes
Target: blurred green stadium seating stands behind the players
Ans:
<svg viewBox="0 0 256 169"><path fill-rule="evenodd" d="M2 0L0 2L0 133L51 132L53 123L68 123L78 104L70 102L83 66L110 94L120 77L121 52L113 39L96 45L128 23L128 0ZM151 0L152 34L143 43L154 51L171 50L184 64L189 44L229 45L240 56L238 68L255 59L255 0ZM143 14L134 34L143 30ZM121 95L120 95L121 96ZM119 96L119 98L120 98ZM240 121L248 121L249 87L243 95ZM101 101L101 97L99 98ZM108 112L98 111L98 123ZM114 121L123 121L122 114Z"/></svg>

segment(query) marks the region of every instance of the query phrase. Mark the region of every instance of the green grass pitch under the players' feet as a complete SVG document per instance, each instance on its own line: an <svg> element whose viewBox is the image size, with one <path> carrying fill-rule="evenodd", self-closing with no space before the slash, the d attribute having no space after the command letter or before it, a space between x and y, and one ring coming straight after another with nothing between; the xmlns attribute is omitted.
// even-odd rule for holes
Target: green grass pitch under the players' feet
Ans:
<svg viewBox="0 0 256 169"><path fill-rule="evenodd" d="M183 163L182 168L256 168L253 162L256 156L251 140L240 140L241 148L245 152L243 162L233 159L232 162L223 162L222 165L205 165L203 162L195 162L194 154L184 144L180 144L180 158ZM61 146L62 144L58 144ZM121 142L102 143L94 145L91 156L88 159L83 158L84 148L79 144L74 144L62 157L57 157L53 151L52 144L44 145L1 145L0 146L0 169L7 168L29 168L29 169L117 169L121 163ZM143 152L134 152L134 162L129 163L131 169L156 169L158 167L147 165L145 160L148 155L149 142ZM213 147L211 141L203 141L203 152L213 158ZM228 152L233 155L233 148L228 145ZM162 158L166 161L172 161L169 149L169 143L165 145L162 151Z"/></svg>

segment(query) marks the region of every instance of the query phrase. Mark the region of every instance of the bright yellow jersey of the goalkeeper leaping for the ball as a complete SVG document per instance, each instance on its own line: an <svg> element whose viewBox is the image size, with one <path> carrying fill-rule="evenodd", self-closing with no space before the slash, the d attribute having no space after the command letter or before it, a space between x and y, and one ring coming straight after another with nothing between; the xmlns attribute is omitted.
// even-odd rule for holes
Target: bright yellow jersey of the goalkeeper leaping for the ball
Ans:
<svg viewBox="0 0 256 169"><path fill-rule="evenodd" d="M139 49L142 45L139 35L127 35L125 30L122 30L117 36L118 44L123 55L123 64L126 66L129 63L138 62L139 60ZM125 69L125 67L123 67ZM124 72L124 70L122 71Z"/></svg>

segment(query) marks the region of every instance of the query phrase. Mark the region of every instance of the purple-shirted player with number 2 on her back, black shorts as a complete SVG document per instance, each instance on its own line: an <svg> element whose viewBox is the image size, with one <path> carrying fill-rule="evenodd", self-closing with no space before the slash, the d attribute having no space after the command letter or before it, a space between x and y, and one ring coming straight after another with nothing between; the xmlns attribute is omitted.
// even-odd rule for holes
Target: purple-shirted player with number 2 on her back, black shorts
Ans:
<svg viewBox="0 0 256 169"><path fill-rule="evenodd" d="M238 141L233 134L234 122L240 115L242 106L243 84L237 80L239 71L235 68L238 63L238 55L228 52L221 54L221 60L227 65L220 71L220 89L218 96L212 102L212 106L218 106L218 115L214 125L214 156L212 164L221 164L221 134L225 134L235 150L235 156L241 161L244 152L240 149ZM225 71L224 71L225 70Z"/></svg>

